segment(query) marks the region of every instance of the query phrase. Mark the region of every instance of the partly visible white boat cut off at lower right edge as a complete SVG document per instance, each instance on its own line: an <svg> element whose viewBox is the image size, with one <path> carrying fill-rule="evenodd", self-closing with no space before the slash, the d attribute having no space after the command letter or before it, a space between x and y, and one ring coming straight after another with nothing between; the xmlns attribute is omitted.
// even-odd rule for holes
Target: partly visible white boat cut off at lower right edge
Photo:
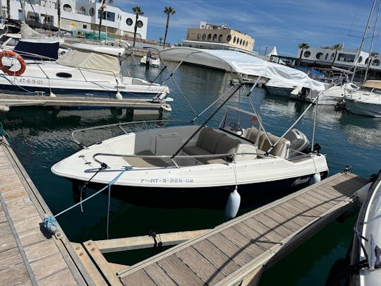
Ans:
<svg viewBox="0 0 381 286"><path fill-rule="evenodd" d="M369 191L356 222L350 285L373 286L381 281L381 177L375 177L365 188Z"/></svg>

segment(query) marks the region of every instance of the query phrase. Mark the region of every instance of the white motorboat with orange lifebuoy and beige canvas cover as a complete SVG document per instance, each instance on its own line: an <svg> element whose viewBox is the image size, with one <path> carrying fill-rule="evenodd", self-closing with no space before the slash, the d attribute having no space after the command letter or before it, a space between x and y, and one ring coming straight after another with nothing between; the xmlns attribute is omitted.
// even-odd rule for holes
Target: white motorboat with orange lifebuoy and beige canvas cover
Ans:
<svg viewBox="0 0 381 286"><path fill-rule="evenodd" d="M124 48L78 43L56 61L24 61L11 52L0 52L0 89L6 93L111 98L169 93L165 85L122 76Z"/></svg>

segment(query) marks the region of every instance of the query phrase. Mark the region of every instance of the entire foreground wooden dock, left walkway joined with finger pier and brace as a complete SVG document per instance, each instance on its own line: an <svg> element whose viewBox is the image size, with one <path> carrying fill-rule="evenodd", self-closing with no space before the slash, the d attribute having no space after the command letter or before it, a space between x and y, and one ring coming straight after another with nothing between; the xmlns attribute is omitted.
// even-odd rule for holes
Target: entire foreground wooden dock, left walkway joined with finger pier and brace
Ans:
<svg viewBox="0 0 381 286"><path fill-rule="evenodd" d="M152 247L152 237L83 244L62 230L52 237L42 226L49 208L0 137L0 284L255 285L263 270L350 208L366 183L336 174L212 230L160 234L163 245L178 245L123 266L102 253Z"/></svg>

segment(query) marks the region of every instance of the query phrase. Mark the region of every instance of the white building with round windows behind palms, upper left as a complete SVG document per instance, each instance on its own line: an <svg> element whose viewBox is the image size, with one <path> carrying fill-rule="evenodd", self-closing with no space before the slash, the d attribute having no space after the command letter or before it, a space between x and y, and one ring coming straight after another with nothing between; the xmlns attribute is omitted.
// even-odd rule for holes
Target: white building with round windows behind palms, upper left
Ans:
<svg viewBox="0 0 381 286"><path fill-rule="evenodd" d="M21 20L23 12L20 1L9 0L11 19ZM59 26L57 13L58 0L30 0L25 1L25 17L27 20L40 19L40 23ZM98 30L101 4L95 0L61 0L61 28L64 30ZM6 0L1 0L1 15L7 18ZM109 6L105 8L102 19L102 32L127 35L133 37L135 14L126 13L121 9ZM137 37L146 39L148 18L139 16Z"/></svg>

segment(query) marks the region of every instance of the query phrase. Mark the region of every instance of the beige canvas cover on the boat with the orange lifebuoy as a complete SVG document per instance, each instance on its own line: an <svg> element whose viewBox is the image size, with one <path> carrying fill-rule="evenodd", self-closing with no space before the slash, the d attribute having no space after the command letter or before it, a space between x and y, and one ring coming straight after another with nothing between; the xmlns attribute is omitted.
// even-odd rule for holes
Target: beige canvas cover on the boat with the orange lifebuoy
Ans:
<svg viewBox="0 0 381 286"><path fill-rule="evenodd" d="M88 50L71 49L63 54L57 61L57 64L63 66L74 66L95 70L97 73L104 73L120 76L119 59L116 56L102 54L99 52L90 52Z"/></svg>

